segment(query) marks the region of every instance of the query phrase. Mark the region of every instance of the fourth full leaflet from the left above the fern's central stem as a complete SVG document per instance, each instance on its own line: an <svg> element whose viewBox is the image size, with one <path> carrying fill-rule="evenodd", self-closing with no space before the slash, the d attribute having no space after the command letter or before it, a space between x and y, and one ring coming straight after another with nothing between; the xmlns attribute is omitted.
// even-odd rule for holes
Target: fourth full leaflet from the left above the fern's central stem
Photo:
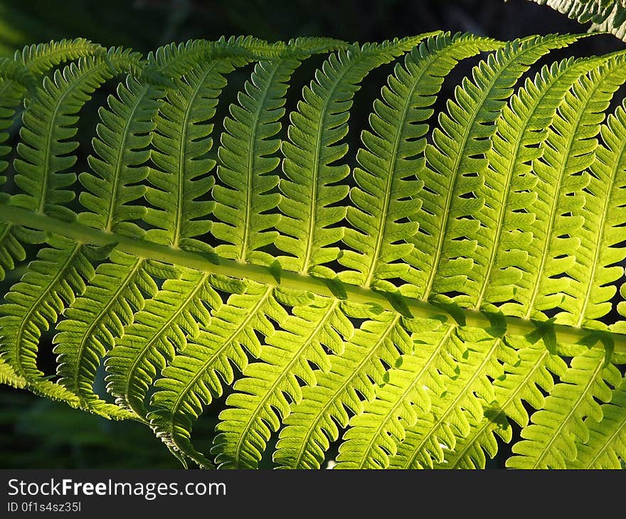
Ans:
<svg viewBox="0 0 626 519"><path fill-rule="evenodd" d="M280 164L275 156L280 139L272 137L280 131L288 81L299 65L294 59L261 61L239 92L238 105L230 105L233 118L224 121L226 132L218 150L223 185L213 188L213 214L219 221L211 233L224 242L216 249L218 255L260 264L274 261L259 250L274 242L277 232L268 229L280 218L276 212L267 213L280 200L274 189L278 176L268 174Z"/></svg>

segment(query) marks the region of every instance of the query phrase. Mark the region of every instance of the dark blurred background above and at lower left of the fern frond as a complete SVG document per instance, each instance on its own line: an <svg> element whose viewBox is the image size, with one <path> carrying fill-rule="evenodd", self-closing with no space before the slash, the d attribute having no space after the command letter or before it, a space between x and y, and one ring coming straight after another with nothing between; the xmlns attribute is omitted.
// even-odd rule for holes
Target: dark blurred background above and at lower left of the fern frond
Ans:
<svg viewBox="0 0 626 519"><path fill-rule="evenodd" d="M437 29L510 40L586 28L526 0L0 0L0 55L12 55L30 43L77 36L147 53L189 38L329 36L364 43ZM585 38L565 54L551 53L551 60L623 47L617 38L600 35ZM366 117L371 100L361 105L356 111L363 113L353 113L354 119ZM203 450L208 451L215 421L209 411L194 427ZM502 449L491 466L503 466L506 454ZM0 468L179 467L147 427L110 422L25 391L0 388Z"/></svg>

